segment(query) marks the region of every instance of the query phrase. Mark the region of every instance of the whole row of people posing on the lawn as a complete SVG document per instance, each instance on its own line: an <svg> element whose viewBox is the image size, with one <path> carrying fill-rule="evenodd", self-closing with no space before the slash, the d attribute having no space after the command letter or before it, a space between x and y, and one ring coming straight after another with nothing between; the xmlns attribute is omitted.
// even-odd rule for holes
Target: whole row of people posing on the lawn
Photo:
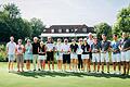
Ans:
<svg viewBox="0 0 130 87"><path fill-rule="evenodd" d="M48 41L38 41L34 37L34 42L27 39L26 45L22 44L22 39L14 42L14 37L10 37L10 42L6 44L6 52L9 58L9 72L13 70L13 62L16 57L17 72L24 72L24 60L26 61L26 69L30 71L30 63L32 60L34 71L44 71L48 62L48 70L54 71L54 60L56 59L58 71L73 72L101 72L104 73L104 65L106 64L107 73L109 73L109 55L114 73L129 74L130 69L130 39L122 33L121 40L118 40L117 35L113 35L113 41L108 41L105 34L102 34L102 40L89 34L89 38L76 39L58 38L56 44L53 42L52 37L48 37ZM112 51L112 54L109 54ZM91 69L93 64L93 70ZM52 66L50 66L52 64ZM98 65L98 67L96 67ZM116 66L118 65L118 71ZM101 70L100 70L101 66ZM122 72L121 72L122 66Z"/></svg>

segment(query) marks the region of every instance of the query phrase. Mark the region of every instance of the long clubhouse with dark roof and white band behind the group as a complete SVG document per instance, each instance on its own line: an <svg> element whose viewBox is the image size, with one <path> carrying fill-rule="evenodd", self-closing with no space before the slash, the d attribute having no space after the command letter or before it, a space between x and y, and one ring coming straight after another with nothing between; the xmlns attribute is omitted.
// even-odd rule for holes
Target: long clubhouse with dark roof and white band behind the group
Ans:
<svg viewBox="0 0 130 87"><path fill-rule="evenodd" d="M72 38L80 38L80 37L88 37L88 34L92 33L95 34L93 27L89 27L86 24L83 25L52 25L49 28L44 28L41 33L41 39L47 39L48 36L56 38L67 38L70 40Z"/></svg>

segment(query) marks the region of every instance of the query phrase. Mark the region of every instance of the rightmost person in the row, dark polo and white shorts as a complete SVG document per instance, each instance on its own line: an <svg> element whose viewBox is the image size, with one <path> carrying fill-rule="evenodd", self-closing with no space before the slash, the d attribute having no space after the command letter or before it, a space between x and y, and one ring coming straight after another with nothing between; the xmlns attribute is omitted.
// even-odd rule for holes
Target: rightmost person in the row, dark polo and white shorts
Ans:
<svg viewBox="0 0 130 87"><path fill-rule="evenodd" d="M121 62L123 66L123 73L129 74L130 69L130 39L128 38L126 33L122 33L122 39L120 40L120 51L121 51ZM127 70L127 73L126 73Z"/></svg>

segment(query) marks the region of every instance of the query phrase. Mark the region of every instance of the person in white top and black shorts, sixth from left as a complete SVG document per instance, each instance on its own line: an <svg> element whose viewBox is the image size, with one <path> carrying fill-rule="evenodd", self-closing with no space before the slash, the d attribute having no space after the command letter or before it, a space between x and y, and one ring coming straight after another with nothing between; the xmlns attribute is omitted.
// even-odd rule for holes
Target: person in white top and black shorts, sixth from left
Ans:
<svg viewBox="0 0 130 87"><path fill-rule="evenodd" d="M47 61L48 61L49 71L51 71L51 67L50 67L51 62L52 62L52 71L54 71L54 50L55 50L55 47L54 47L52 37L48 37L48 41L47 41L46 47L47 47Z"/></svg>

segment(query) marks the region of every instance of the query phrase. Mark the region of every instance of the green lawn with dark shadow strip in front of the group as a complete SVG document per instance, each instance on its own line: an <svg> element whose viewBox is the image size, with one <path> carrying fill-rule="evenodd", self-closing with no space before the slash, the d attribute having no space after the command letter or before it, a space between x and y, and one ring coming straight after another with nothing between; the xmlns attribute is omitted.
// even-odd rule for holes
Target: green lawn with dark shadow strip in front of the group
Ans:
<svg viewBox="0 0 130 87"><path fill-rule="evenodd" d="M130 87L130 76L86 73L8 73L0 62L0 87Z"/></svg>

